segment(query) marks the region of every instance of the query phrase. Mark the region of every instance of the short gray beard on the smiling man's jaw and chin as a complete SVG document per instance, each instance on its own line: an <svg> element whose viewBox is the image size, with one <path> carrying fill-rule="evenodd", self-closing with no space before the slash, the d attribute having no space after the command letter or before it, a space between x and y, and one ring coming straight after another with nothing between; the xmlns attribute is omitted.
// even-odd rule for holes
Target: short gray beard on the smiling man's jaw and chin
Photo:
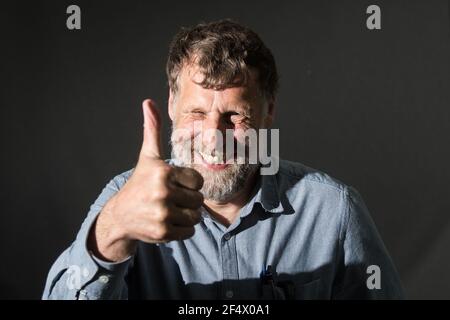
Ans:
<svg viewBox="0 0 450 320"><path fill-rule="evenodd" d="M204 183L200 192L205 199L224 202L230 200L233 195L242 190L248 178L259 169L259 164L232 163L220 171L212 171L204 168L200 164L192 163L193 150L190 147L190 140L176 142L171 139L172 155L175 164L197 170L203 177Z"/></svg>

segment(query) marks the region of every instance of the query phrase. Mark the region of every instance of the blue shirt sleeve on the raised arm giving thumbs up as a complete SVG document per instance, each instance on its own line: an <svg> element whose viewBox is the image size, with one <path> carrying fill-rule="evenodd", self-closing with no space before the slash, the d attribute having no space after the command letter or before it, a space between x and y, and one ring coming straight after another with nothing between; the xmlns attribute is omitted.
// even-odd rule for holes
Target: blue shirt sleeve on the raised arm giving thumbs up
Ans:
<svg viewBox="0 0 450 320"><path fill-rule="evenodd" d="M50 269L42 299L96 300L126 299L125 276L132 258L107 263L95 258L87 249L89 231L106 202L125 183L122 176L111 180L103 189L84 220L75 241Z"/></svg>

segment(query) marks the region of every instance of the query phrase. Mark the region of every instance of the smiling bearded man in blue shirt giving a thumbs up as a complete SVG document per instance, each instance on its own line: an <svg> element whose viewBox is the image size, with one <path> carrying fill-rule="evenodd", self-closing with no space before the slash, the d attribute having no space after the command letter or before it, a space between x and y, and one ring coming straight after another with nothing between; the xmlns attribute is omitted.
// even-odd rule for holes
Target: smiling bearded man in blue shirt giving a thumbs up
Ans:
<svg viewBox="0 0 450 320"><path fill-rule="evenodd" d="M263 175L204 134L231 130L248 149L245 133L271 126L277 70L253 31L229 20L181 30L167 76L174 159L161 159L160 117L145 100L136 167L91 206L44 299L402 297L355 189L284 160Z"/></svg>

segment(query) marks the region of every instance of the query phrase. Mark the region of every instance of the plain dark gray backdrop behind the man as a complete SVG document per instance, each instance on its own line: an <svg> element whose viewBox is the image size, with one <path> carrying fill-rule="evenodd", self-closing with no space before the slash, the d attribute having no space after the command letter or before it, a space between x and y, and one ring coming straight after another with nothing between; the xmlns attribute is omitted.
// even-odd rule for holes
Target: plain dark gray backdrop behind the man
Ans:
<svg viewBox="0 0 450 320"><path fill-rule="evenodd" d="M370 4L382 30L365 27ZM425 0L2 3L0 297L40 297L91 202L134 165L141 101L166 110L171 37L219 18L275 55L282 157L362 193L409 298L450 298L449 8Z"/></svg>

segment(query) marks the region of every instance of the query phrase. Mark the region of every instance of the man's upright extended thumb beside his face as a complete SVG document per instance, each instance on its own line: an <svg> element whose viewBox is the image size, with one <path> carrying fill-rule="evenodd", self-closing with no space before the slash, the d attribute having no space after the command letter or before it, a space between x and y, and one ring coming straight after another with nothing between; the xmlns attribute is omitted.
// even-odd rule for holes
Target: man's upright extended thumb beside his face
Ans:
<svg viewBox="0 0 450 320"><path fill-rule="evenodd" d="M144 139L141 156L149 159L161 159L161 117L155 102L146 99L142 102L144 116Z"/></svg>

